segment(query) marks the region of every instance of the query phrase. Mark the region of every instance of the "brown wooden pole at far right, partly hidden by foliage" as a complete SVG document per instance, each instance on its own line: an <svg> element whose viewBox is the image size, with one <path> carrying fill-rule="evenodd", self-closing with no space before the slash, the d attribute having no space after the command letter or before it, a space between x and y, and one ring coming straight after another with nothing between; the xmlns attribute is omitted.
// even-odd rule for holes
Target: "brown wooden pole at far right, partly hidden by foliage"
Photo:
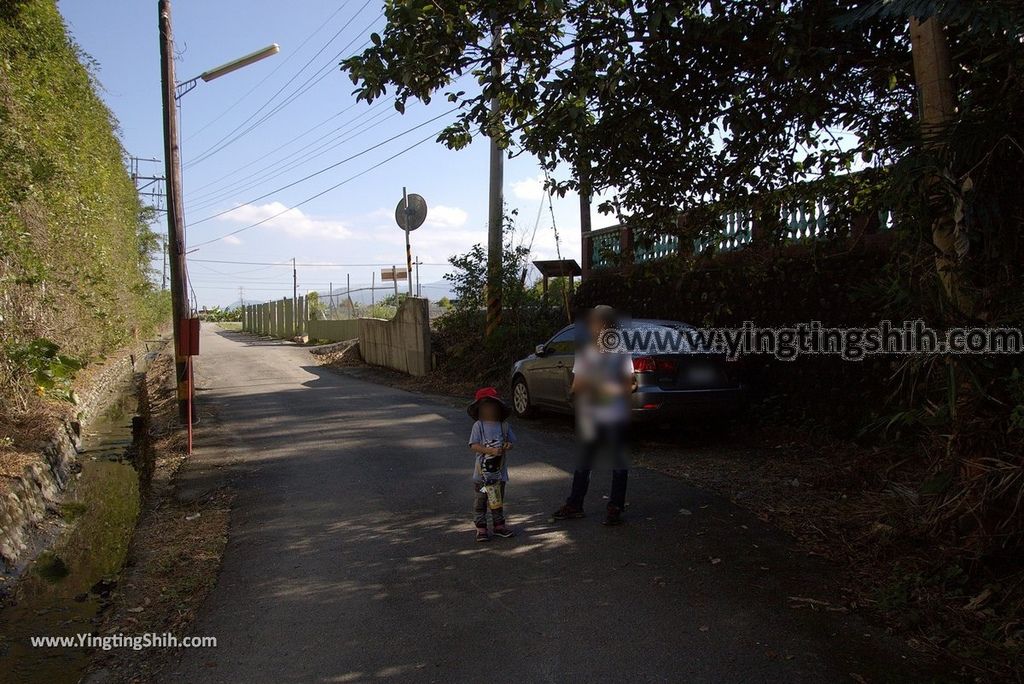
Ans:
<svg viewBox="0 0 1024 684"><path fill-rule="evenodd" d="M921 108L921 129L925 148L936 155L943 152L942 135L956 118L956 97L953 94L952 60L945 32L936 16L921 20L910 17L910 51L913 77L918 84ZM945 170L948 175L948 170ZM932 243L935 245L935 266L946 295L962 311L968 312L970 302L961 286L956 254L955 221L952 210L942 206L940 172L931 181L933 206L938 214L932 219Z"/></svg>

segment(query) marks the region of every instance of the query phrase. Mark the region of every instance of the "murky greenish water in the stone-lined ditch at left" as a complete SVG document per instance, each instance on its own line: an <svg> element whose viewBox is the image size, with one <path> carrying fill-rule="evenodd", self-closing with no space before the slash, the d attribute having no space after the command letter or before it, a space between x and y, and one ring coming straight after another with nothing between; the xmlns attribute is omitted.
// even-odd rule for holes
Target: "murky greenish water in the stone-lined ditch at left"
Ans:
<svg viewBox="0 0 1024 684"><path fill-rule="evenodd" d="M33 647L31 637L91 634L124 564L139 510L130 459L137 409L130 382L83 436L81 474L68 487L57 541L26 569L0 607L0 682L78 682L89 650Z"/></svg>

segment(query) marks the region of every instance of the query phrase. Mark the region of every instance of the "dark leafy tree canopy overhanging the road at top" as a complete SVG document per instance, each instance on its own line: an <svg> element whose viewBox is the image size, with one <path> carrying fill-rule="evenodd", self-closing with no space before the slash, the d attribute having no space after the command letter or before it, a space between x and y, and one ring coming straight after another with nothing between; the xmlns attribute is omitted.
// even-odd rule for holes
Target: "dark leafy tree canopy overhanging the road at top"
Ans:
<svg viewBox="0 0 1024 684"><path fill-rule="evenodd" d="M451 147L479 128L551 171L567 162L559 190L610 189L602 210L663 222L894 157L912 124L906 28L878 14L841 23L862 4L388 2L383 34L344 69L359 97L391 88L399 110L444 91L461 105L440 137ZM478 89L451 87L470 73Z"/></svg>

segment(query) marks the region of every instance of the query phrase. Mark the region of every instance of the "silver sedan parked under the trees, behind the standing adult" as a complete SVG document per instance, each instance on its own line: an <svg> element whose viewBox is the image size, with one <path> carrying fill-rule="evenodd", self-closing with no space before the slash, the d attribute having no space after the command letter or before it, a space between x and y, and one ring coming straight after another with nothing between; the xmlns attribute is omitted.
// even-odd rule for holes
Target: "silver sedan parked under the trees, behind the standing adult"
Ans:
<svg viewBox="0 0 1024 684"><path fill-rule="evenodd" d="M692 329L678 320L634 318L627 328L682 333ZM569 325L537 350L512 366L512 408L528 418L538 411L572 413L572 385L578 328ZM726 417L735 413L744 393L735 364L723 355L676 351L633 353L637 389L632 395L633 418L657 421Z"/></svg>

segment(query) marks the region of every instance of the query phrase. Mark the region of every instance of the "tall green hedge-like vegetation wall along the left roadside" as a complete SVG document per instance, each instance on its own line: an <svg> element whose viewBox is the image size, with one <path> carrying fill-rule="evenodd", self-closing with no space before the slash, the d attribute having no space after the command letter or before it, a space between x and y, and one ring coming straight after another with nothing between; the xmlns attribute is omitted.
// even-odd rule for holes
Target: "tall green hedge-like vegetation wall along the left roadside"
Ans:
<svg viewBox="0 0 1024 684"><path fill-rule="evenodd" d="M148 279L151 213L87 65L53 0L0 4L0 424L40 388L70 397L82 360L169 312Z"/></svg>

